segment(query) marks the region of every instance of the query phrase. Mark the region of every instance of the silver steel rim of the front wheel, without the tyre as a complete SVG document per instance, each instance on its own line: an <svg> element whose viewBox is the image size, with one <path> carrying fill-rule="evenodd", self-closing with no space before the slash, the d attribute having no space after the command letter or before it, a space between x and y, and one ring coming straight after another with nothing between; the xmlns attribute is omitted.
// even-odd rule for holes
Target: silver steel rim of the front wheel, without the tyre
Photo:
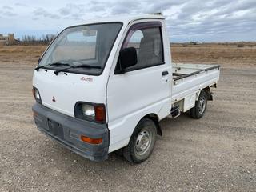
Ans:
<svg viewBox="0 0 256 192"><path fill-rule="evenodd" d="M151 134L148 130L142 130L136 138L135 150L139 155L145 154L151 144Z"/></svg>

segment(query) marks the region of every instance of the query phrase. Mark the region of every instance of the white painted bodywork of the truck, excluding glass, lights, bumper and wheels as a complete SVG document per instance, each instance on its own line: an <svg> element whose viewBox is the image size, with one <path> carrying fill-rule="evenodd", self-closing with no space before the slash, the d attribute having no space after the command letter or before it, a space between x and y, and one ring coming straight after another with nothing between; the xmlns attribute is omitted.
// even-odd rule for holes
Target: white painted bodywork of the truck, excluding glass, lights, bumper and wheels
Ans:
<svg viewBox="0 0 256 192"><path fill-rule="evenodd" d="M118 53L129 27L134 23L154 21L162 22L165 64L126 74L114 74ZM74 104L78 101L105 104L106 123L110 130L109 152L126 146L134 128L147 114L155 114L158 120L161 120L170 114L175 102L181 101L183 110L189 110L194 106L202 89L218 82L218 68L174 81L173 73L190 74L210 66L193 64L172 66L170 42L166 22L162 16L103 18L87 23L99 22L123 23L101 75L60 73L56 76L53 70L48 72L39 70L34 72L33 85L41 94L42 105L71 117L74 117ZM168 71L169 74L163 77L162 71ZM91 81L82 80L85 78L90 78ZM52 102L53 97L56 102Z"/></svg>

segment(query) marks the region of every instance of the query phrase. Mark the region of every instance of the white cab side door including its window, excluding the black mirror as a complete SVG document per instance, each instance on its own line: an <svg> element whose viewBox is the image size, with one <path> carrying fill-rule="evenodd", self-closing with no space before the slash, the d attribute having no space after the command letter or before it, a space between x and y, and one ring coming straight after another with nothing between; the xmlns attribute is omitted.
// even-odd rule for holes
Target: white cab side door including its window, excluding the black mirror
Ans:
<svg viewBox="0 0 256 192"><path fill-rule="evenodd" d="M138 62L125 74L110 75L107 86L110 146L129 141L143 113L170 98L170 62L164 60L162 22L130 26L122 44L122 49L126 47L136 48ZM160 110L162 106L157 107Z"/></svg>

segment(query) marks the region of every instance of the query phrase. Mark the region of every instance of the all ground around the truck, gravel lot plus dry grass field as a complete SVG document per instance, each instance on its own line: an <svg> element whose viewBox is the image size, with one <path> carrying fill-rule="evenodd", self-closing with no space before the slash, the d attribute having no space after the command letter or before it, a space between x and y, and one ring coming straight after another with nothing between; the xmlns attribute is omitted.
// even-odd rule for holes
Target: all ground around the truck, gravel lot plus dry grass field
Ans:
<svg viewBox="0 0 256 192"><path fill-rule="evenodd" d="M255 191L256 48L173 46L174 62L221 64L206 114L161 122L150 158L95 163L41 134L31 113L43 46L0 47L0 191Z"/></svg>

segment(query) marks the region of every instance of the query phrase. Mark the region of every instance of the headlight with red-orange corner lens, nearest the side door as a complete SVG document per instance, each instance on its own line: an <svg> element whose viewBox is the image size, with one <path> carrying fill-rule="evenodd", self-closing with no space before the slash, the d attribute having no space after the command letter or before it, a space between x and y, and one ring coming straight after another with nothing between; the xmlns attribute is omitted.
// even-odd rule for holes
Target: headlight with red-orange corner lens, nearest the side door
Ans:
<svg viewBox="0 0 256 192"><path fill-rule="evenodd" d="M104 104L77 102L74 106L74 116L93 122L106 122L106 110Z"/></svg>

